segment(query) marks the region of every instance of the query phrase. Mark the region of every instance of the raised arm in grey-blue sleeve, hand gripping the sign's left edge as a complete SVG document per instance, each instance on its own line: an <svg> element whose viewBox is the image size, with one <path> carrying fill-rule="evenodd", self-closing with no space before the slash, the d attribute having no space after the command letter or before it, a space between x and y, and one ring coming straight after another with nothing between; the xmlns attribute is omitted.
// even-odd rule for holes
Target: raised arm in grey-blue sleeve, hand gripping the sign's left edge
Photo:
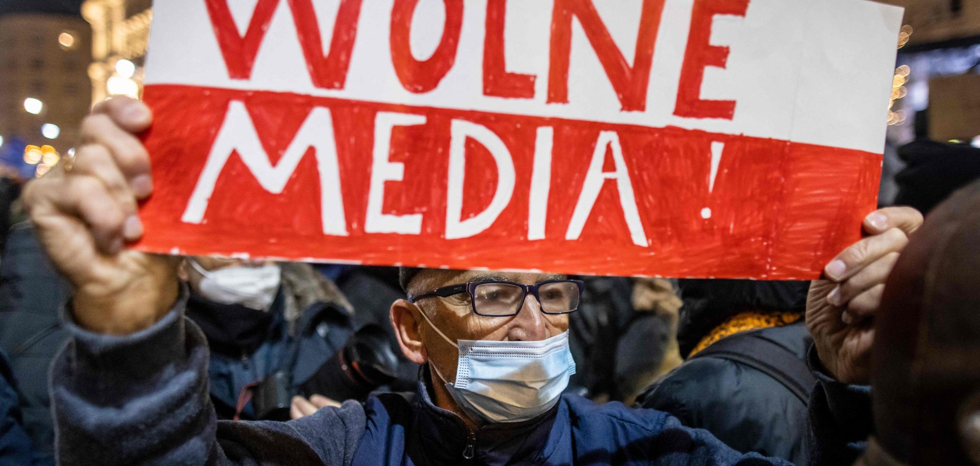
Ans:
<svg viewBox="0 0 980 466"><path fill-rule="evenodd" d="M179 258L123 248L143 235L137 203L153 192L135 136L151 120L140 102L103 102L74 157L25 188L41 245L74 291L51 379L61 464L349 464L364 432L357 403L288 424L216 421Z"/></svg>

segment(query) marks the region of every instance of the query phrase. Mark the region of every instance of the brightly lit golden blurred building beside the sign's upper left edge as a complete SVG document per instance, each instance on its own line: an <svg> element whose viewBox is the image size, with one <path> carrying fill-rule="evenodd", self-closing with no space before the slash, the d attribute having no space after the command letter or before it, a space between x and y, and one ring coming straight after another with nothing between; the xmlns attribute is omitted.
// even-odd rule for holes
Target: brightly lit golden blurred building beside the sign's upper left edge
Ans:
<svg viewBox="0 0 980 466"><path fill-rule="evenodd" d="M150 38L152 0L86 0L81 14L92 25L92 102L113 95L139 98Z"/></svg>

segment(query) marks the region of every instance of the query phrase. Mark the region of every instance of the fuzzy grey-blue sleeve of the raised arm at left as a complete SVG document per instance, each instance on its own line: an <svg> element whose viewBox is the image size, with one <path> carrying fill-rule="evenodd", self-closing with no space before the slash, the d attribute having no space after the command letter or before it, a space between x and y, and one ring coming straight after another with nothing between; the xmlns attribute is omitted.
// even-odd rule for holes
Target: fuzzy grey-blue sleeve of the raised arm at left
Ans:
<svg viewBox="0 0 980 466"><path fill-rule="evenodd" d="M364 432L361 404L297 421L217 421L208 388L207 341L172 311L126 336L72 334L51 368L58 459L65 465L350 464Z"/></svg>

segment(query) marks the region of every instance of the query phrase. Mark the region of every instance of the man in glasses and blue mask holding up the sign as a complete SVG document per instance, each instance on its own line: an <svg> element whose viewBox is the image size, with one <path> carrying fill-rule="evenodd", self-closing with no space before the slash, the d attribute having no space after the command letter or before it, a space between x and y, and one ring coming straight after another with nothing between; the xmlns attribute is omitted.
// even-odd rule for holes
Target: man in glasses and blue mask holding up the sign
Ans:
<svg viewBox="0 0 980 466"><path fill-rule="evenodd" d="M348 401L288 423L216 421L207 345L183 317L179 258L123 249L142 235L136 203L153 190L133 136L151 118L131 100L103 103L83 124L73 165L26 189L42 243L76 290L73 338L52 368L62 464L787 464L736 452L660 411L562 395L581 284L536 273L406 276L408 300L393 303L390 318L405 355L423 364L415 395ZM867 380L871 316L919 223L914 210L871 213L871 236L811 287L820 458L853 459L852 442L867 435L854 429L866 419L851 417L867 412L866 390L846 384Z"/></svg>

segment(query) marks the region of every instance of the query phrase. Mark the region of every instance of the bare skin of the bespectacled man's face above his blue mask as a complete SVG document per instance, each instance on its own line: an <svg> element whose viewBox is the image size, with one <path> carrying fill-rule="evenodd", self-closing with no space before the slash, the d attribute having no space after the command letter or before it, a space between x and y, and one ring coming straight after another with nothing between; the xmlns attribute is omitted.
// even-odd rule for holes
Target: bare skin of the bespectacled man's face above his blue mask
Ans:
<svg viewBox="0 0 980 466"><path fill-rule="evenodd" d="M534 285L547 280L564 279L564 275L541 273L424 270L413 280L412 291L418 295L433 289L467 282L500 280L521 285ZM560 335L568 330L569 314L545 314L533 294L528 294L517 315L488 317L477 315L469 303L469 295L462 293L447 298L427 297L417 301L419 310L425 312L432 323L454 343L458 340L489 341L539 341ZM442 371L446 382L453 382L456 375L459 351L439 336L421 320L422 343L429 359ZM451 370L452 372L447 372Z"/></svg>

